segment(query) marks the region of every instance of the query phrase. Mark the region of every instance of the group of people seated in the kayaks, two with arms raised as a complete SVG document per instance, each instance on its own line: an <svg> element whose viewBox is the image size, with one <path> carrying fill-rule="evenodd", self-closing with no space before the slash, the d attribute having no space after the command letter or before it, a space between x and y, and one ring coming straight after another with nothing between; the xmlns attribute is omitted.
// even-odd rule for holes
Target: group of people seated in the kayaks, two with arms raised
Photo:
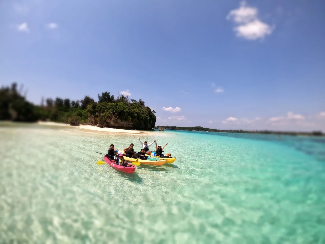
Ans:
<svg viewBox="0 0 325 244"><path fill-rule="evenodd" d="M108 149L108 154L106 154L106 156L110 159L110 161L115 162L115 164L118 164L120 166L124 166L124 167L132 167L132 164L128 164L127 162L125 162L124 157L132 157L132 158L139 158L142 160L147 160L148 156L147 155L151 155L151 151L149 150L149 147L155 143L156 144L156 155L155 156L160 156L160 157L164 157L164 158L169 158L171 157L170 154L166 154L163 155L163 149L165 148L165 146L168 145L168 143L166 143L163 147L162 145L158 145L157 146L157 141L156 139L149 143L148 142L144 142L142 143L140 140L140 137L138 137L138 140L141 144L141 150L140 152L135 152L133 149L134 144L131 143L129 147L126 147L123 149L123 154L121 151L119 151L119 149L114 149L114 144L110 145L110 148Z"/></svg>

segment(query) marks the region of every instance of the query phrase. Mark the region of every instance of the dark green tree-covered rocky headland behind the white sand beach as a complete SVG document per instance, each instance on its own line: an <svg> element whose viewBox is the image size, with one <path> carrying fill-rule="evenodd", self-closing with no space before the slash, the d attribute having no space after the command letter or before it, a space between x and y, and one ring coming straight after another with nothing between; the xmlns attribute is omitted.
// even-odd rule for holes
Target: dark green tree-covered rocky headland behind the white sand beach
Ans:
<svg viewBox="0 0 325 244"><path fill-rule="evenodd" d="M0 120L50 120L71 125L87 123L98 127L152 129L156 123L154 114L142 99L130 100L123 94L115 99L107 91L98 94L98 102L89 96L80 101L57 97L43 99L41 105L34 105L20 94L16 83L0 88Z"/></svg>

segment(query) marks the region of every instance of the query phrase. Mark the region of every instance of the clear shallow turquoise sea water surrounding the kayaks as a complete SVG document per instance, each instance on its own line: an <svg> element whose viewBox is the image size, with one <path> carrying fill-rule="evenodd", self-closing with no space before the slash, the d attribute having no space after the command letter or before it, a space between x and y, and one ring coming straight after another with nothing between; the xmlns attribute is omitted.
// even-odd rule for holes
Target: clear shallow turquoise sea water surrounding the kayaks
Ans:
<svg viewBox="0 0 325 244"><path fill-rule="evenodd" d="M137 135L0 127L0 243L325 243L325 140L150 131L177 159L97 165Z"/></svg>

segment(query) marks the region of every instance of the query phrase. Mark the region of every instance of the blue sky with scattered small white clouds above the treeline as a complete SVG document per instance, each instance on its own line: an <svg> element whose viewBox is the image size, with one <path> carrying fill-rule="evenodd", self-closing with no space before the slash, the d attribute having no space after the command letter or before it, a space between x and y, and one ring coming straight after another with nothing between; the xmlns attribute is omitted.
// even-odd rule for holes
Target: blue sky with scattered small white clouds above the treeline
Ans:
<svg viewBox="0 0 325 244"><path fill-rule="evenodd" d="M1 1L0 85L34 103L128 92L158 125L325 131L324 12L321 0Z"/></svg>

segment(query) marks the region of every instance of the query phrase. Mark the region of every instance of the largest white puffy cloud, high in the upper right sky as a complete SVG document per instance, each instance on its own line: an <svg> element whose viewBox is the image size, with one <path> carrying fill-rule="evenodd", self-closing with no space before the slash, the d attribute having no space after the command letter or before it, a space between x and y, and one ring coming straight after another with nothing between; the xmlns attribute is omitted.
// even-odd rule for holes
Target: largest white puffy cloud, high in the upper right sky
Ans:
<svg viewBox="0 0 325 244"><path fill-rule="evenodd" d="M242 1L240 7L229 12L226 19L232 19L237 26L234 28L237 36L248 40L256 40L270 35L274 26L262 22L257 17L258 9L256 7L247 7L246 2Z"/></svg>

